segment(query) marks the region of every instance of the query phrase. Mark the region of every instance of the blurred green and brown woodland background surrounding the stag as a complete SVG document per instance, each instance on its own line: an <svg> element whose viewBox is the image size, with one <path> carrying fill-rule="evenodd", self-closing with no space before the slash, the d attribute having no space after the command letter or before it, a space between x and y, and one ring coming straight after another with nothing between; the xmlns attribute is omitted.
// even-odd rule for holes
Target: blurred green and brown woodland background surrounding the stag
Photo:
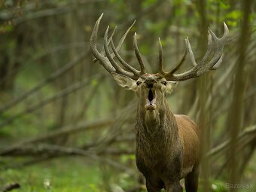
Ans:
<svg viewBox="0 0 256 192"><path fill-rule="evenodd" d="M146 191L134 156L136 95L89 49L104 13L99 50L108 25L117 26L117 44L136 20L120 54L138 69L137 32L148 72L157 72L158 37L167 70L181 59L184 38L200 60L207 27L221 37L227 23L221 68L179 83L169 107L201 122L200 191L203 183L209 191L256 191L255 10L252 0L0 1L0 190ZM179 72L191 66L187 56Z"/></svg>

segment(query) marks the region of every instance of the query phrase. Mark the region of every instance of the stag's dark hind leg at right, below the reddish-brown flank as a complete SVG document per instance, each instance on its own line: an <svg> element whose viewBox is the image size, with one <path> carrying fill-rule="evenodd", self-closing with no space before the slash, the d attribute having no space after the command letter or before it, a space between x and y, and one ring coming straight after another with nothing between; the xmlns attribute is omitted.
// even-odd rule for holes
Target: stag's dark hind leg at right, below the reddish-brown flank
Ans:
<svg viewBox="0 0 256 192"><path fill-rule="evenodd" d="M197 192L199 166L194 166L192 172L185 177L186 192Z"/></svg>

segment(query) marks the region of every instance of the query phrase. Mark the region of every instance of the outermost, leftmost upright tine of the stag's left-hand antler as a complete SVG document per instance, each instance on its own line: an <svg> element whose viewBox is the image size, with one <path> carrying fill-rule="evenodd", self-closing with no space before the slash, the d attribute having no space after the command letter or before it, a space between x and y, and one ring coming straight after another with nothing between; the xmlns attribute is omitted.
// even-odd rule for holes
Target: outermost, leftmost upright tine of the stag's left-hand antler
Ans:
<svg viewBox="0 0 256 192"><path fill-rule="evenodd" d="M102 56L101 53L99 53L99 50L97 50L96 43L97 43L97 34L99 30L99 23L102 20L103 14L100 15L99 19L96 21L95 26L93 28L92 35L90 36L90 50L93 53L93 56L96 57L96 59L99 60L99 62L102 63L102 66L108 71L108 72L115 72L115 69L113 66L111 66L111 63L108 61L108 59L105 56Z"/></svg>

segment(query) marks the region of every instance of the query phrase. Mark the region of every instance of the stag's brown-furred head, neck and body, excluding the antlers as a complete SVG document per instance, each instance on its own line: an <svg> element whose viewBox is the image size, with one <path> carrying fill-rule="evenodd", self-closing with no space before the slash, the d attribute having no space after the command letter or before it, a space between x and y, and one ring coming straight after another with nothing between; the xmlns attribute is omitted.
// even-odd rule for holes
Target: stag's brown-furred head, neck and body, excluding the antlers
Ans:
<svg viewBox="0 0 256 192"><path fill-rule="evenodd" d="M172 82L159 75L144 75L137 82L112 74L121 87L139 96L136 115L136 165L146 178L148 192L197 192L199 131L185 115L173 115L166 101ZM164 82L164 83L163 83Z"/></svg>

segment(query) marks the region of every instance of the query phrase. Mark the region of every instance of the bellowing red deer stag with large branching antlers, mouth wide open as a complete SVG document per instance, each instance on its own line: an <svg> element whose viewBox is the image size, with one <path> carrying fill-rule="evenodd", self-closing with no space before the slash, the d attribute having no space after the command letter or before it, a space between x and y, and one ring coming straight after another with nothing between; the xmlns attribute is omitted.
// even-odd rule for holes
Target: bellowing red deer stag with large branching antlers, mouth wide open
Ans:
<svg viewBox="0 0 256 192"><path fill-rule="evenodd" d="M223 47L228 34L224 23L222 38L209 29L208 48L203 59L196 62L188 38L185 39L186 51L173 69L163 71L163 50L159 39L159 72L149 74L145 70L142 56L137 46L136 33L133 45L139 61L140 71L134 69L119 55L121 45L130 29L126 31L117 47L114 46L112 37L115 29L108 38L108 29L104 35L104 46L99 52L96 47L96 36L102 15L96 21L90 37L90 50L96 60L111 73L114 80L127 90L134 90L139 97L136 114L136 165L145 176L146 187L149 192L157 192L166 188L168 192L182 191L180 179L184 178L186 191L197 191L199 174L200 141L197 125L189 117L172 114L166 101L166 93L172 91L172 85L177 81L197 78L209 70L221 66ZM134 23L133 23L134 24ZM215 41L215 53L212 59L209 55L212 48L212 38ZM108 49L109 45L113 52ZM186 53L190 54L193 68L181 74L175 74L181 66ZM117 64L116 59L124 67Z"/></svg>

